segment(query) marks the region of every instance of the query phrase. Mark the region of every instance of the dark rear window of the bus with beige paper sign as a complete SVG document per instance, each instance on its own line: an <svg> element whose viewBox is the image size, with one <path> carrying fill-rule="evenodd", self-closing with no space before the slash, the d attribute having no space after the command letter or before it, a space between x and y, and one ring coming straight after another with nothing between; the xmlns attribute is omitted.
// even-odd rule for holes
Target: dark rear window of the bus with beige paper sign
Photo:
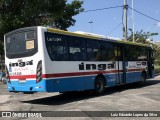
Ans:
<svg viewBox="0 0 160 120"><path fill-rule="evenodd" d="M13 31L5 36L6 56L8 58L27 57L37 51L35 30Z"/></svg>

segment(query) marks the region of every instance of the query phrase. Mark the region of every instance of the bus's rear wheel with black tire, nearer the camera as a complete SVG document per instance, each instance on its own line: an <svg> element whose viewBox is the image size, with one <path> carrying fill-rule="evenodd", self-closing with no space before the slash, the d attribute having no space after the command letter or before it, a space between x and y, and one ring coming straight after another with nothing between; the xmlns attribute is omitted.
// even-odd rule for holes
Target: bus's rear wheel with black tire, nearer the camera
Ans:
<svg viewBox="0 0 160 120"><path fill-rule="evenodd" d="M99 76L96 78L94 83L94 92L96 95L101 95L105 91L105 80L103 77Z"/></svg>

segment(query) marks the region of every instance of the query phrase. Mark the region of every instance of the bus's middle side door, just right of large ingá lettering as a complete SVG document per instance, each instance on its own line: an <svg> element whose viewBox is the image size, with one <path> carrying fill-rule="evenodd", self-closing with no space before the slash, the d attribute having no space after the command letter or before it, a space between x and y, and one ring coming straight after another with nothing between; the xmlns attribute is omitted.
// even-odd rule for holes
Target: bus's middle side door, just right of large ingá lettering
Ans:
<svg viewBox="0 0 160 120"><path fill-rule="evenodd" d="M115 56L116 56L116 83L122 84L125 83L125 62L123 57L123 50L122 47L117 46L115 47Z"/></svg>

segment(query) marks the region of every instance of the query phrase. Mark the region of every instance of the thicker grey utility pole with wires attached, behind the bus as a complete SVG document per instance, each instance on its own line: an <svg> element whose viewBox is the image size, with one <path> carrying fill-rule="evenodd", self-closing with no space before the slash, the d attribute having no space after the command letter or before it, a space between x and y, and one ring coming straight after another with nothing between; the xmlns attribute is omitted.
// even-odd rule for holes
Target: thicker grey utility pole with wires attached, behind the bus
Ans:
<svg viewBox="0 0 160 120"><path fill-rule="evenodd" d="M124 22L124 27L123 27L123 31L124 31L124 40L127 41L127 9L128 9L128 5L127 5L127 0L124 0L124 17L123 17L123 22Z"/></svg>

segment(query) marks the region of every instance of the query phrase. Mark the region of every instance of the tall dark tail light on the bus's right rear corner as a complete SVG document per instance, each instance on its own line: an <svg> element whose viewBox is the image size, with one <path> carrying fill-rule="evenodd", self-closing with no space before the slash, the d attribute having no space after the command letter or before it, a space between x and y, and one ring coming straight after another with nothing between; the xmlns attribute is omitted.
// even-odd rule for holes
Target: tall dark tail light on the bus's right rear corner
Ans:
<svg viewBox="0 0 160 120"><path fill-rule="evenodd" d="M41 80L42 80L42 60L40 60L37 65L36 83L39 83Z"/></svg>

